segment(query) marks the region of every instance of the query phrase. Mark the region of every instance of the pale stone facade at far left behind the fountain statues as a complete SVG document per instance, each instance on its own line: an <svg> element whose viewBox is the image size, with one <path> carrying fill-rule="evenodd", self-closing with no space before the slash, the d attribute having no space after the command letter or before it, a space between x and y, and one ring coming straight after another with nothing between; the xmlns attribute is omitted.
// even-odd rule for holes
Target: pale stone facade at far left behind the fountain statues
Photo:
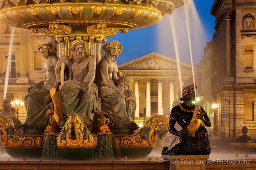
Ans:
<svg viewBox="0 0 256 170"><path fill-rule="evenodd" d="M12 28L0 24L0 30L0 104L2 104ZM22 100L28 94L27 89L33 83L43 80L42 68L45 59L39 53L38 45L48 42L55 45L53 38L46 37L43 33L34 34L30 30L17 28L14 30L6 98ZM20 107L17 105L16 108ZM24 106L18 110L18 117L20 121L25 121L26 109Z"/></svg>

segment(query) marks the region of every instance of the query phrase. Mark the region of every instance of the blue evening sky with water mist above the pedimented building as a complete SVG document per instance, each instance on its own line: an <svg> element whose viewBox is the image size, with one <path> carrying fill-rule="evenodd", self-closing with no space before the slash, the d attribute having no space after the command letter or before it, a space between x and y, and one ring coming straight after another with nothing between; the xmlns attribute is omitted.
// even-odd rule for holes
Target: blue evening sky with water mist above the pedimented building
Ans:
<svg viewBox="0 0 256 170"><path fill-rule="evenodd" d="M206 46L206 41L211 41L212 34L215 33L215 17L210 14L213 3L214 0L194 0L194 5L200 18L198 20L200 21L199 24L197 21L194 21L193 18L190 18L190 24L192 24L192 26L190 25L190 31L192 37L192 54L194 66L200 62L204 55L203 50ZM173 47L173 37L171 35L170 18L174 18L174 30L176 32L176 37L178 37L178 41L180 41L180 43L178 43L180 61L191 64L189 46L187 43L187 29L183 29L185 28L184 25L186 25L186 21L185 19L180 19L180 16L182 15L180 13L184 13L184 7L174 9L174 12L171 16L166 14L163 20L156 25L151 25L145 28L132 29L129 30L128 33L119 32L112 37L106 37L107 42L118 40L123 46L122 54L119 55L116 59L117 64L125 63L152 52L160 53L162 55L176 59ZM200 35L198 35L198 33ZM198 37L200 37L200 40L198 40Z"/></svg>

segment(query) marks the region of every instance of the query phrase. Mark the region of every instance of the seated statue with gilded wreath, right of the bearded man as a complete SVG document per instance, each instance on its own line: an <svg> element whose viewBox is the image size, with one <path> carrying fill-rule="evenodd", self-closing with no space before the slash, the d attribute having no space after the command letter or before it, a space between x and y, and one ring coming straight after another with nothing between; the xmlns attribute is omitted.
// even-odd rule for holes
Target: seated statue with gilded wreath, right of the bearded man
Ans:
<svg viewBox="0 0 256 170"><path fill-rule="evenodd" d="M126 125L129 129L138 129L138 125L131 121L134 113L126 109L127 96L124 94L124 86L119 86L121 90L118 88L118 83L126 81L124 79L122 81L118 77L115 61L115 58L122 53L122 45L115 40L106 43L102 49L105 51L105 56L98 63L96 72L99 97L102 99L102 110L108 113L106 116L111 121ZM120 75L120 77L122 76Z"/></svg>

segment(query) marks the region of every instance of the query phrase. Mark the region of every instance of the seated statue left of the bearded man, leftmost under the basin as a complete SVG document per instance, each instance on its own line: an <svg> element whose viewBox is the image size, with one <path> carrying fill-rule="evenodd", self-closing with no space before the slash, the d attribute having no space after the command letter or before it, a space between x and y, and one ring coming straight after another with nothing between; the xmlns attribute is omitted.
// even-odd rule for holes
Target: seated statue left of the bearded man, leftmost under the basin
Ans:
<svg viewBox="0 0 256 170"><path fill-rule="evenodd" d="M49 124L49 109L53 104L50 98L50 89L56 82L55 68L58 61L56 57L56 48L51 43L38 45L38 50L44 62L44 80L34 83L28 88L28 95L24 97L24 104L27 109L27 118L20 128L44 129Z"/></svg>

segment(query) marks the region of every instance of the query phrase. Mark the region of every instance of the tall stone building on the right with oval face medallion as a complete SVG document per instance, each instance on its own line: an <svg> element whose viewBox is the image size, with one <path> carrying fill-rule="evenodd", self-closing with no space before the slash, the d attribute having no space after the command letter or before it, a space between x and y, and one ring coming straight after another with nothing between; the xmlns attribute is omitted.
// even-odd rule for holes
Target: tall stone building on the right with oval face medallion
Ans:
<svg viewBox="0 0 256 170"><path fill-rule="evenodd" d="M213 121L211 131L237 137L246 126L256 137L256 1L215 0L210 13L216 17L216 33L196 70L202 105Z"/></svg>

